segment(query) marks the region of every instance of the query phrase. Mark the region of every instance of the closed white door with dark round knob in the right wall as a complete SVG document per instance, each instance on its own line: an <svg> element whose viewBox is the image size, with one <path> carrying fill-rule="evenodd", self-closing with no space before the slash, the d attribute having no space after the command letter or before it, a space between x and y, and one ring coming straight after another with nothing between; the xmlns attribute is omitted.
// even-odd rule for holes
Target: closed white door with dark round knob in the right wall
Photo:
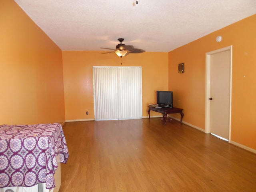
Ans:
<svg viewBox="0 0 256 192"><path fill-rule="evenodd" d="M207 60L206 132L230 140L232 47L211 52Z"/></svg>

